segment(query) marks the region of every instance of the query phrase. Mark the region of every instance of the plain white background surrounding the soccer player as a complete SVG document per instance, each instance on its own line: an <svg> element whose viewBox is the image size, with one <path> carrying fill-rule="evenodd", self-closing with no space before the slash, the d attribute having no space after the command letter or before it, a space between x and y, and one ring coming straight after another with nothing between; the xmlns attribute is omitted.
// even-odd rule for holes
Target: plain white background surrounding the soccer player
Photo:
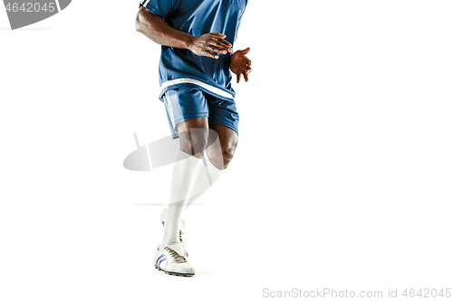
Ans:
<svg viewBox="0 0 453 301"><path fill-rule="evenodd" d="M453 288L450 1L250 1L236 157L187 212L192 278L153 268L169 135L138 1L0 9L0 299L260 300ZM145 204L145 205L142 205Z"/></svg>

